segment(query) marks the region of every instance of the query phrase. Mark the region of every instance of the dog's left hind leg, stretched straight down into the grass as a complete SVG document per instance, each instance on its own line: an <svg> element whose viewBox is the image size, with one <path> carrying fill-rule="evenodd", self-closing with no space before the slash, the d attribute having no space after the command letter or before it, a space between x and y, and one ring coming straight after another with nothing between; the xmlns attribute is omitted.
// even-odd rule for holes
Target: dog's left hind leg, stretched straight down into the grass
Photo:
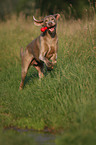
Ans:
<svg viewBox="0 0 96 145"><path fill-rule="evenodd" d="M21 72L21 83L19 87L20 90L24 86L24 80L32 59L33 59L33 55L29 54L27 50L24 52L23 55L21 55L22 72Z"/></svg>

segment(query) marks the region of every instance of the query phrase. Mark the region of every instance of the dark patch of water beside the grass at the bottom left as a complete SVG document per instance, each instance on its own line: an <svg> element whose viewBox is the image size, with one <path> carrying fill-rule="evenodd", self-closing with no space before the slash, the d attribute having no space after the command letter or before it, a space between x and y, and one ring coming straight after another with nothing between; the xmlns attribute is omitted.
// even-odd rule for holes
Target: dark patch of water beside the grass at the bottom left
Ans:
<svg viewBox="0 0 96 145"><path fill-rule="evenodd" d="M14 134L15 132L16 140L18 140L18 137L20 138L20 136L23 136L23 140L25 141L31 140L36 145L56 145L55 139L57 135L48 132L38 132L34 130L29 131L29 130L22 130L22 129L7 129L4 132L11 132L11 134L12 133Z"/></svg>

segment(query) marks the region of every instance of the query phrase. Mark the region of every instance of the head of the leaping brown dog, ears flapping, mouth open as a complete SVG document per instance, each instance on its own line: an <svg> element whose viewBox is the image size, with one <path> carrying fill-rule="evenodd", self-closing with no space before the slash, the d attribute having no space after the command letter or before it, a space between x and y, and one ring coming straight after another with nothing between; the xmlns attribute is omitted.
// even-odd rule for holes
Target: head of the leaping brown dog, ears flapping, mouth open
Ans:
<svg viewBox="0 0 96 145"><path fill-rule="evenodd" d="M43 20L36 20L33 16L34 24L37 26L47 27L48 31L53 33L56 29L57 20L59 19L60 14L54 14L46 16Z"/></svg>

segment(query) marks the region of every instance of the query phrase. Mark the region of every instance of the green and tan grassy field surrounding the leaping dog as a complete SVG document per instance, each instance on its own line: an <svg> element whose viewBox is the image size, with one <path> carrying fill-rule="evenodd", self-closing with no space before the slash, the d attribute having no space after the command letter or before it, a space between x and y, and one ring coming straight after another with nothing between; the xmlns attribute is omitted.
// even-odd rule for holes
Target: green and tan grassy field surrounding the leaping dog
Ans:
<svg viewBox="0 0 96 145"><path fill-rule="evenodd" d="M30 68L24 90L19 91L20 47L36 38L40 28L31 20L15 17L0 24L1 126L63 130L57 144L96 140L95 26L96 18L59 21L57 66L51 72L45 68L42 80Z"/></svg>

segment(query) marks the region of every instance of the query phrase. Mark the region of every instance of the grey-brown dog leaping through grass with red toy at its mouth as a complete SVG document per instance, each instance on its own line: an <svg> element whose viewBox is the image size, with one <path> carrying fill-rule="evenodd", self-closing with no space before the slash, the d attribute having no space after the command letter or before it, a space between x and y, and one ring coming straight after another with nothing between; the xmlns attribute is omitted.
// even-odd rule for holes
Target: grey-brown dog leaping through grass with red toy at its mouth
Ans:
<svg viewBox="0 0 96 145"><path fill-rule="evenodd" d="M23 52L21 48L21 83L19 89L24 86L24 80L28 71L28 68L33 65L39 74L39 78L42 78L44 63L49 70L53 69L53 66L57 63L57 51L58 51L58 37L56 33L57 20L60 14L54 14L44 17L42 20L36 20L33 16L34 24L42 26L39 37L29 43ZM51 60L51 61L50 61Z"/></svg>

